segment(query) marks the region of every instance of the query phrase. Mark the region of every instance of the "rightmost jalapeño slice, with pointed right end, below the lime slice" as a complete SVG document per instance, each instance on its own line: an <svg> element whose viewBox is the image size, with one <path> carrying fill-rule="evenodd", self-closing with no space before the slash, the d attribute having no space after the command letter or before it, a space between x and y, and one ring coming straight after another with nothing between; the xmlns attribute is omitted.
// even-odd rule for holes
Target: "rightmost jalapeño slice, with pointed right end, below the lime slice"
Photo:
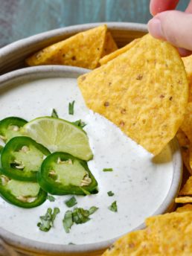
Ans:
<svg viewBox="0 0 192 256"><path fill-rule="evenodd" d="M37 180L44 191L54 195L97 193L97 181L86 161L56 152L43 162Z"/></svg>

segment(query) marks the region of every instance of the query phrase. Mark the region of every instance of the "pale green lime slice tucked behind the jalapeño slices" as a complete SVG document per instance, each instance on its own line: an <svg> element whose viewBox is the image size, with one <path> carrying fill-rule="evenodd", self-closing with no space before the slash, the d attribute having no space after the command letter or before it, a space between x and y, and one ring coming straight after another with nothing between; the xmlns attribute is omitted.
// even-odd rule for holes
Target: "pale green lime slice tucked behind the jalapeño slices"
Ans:
<svg viewBox="0 0 192 256"><path fill-rule="evenodd" d="M89 138L83 129L60 118L36 118L25 124L21 130L51 152L61 151L79 159L92 159Z"/></svg>

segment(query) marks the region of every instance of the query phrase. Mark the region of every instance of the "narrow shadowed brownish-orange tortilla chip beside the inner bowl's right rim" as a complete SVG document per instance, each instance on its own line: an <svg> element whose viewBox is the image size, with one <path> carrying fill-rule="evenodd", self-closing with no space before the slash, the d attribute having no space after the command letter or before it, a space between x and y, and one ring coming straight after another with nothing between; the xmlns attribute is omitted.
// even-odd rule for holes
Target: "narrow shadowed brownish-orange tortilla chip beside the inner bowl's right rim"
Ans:
<svg viewBox="0 0 192 256"><path fill-rule="evenodd" d="M188 172L192 174L192 169L190 166L190 141L188 140L188 137L185 135L185 133L182 131L182 129L179 129L176 133L176 138L179 142L179 146L182 151L182 160L184 161L185 167L188 169ZM192 156L191 156L191 164L192 164Z"/></svg>

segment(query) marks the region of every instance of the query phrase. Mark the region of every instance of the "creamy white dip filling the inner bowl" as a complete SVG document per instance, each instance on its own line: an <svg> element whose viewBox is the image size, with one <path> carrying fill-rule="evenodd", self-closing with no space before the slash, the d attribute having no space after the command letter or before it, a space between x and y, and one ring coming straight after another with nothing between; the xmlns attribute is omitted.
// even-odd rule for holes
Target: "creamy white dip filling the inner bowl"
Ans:
<svg viewBox="0 0 192 256"><path fill-rule="evenodd" d="M68 103L75 100L74 115L68 115ZM68 121L82 119L89 136L94 159L89 168L98 182L99 193L76 196L77 207L99 208L89 222L71 227L69 234L63 228L63 216L68 210L63 203L71 196L54 196L33 209L18 208L0 198L0 227L13 234L55 244L96 243L121 236L136 228L152 215L164 201L173 179L173 163L170 148L166 147L158 161L144 148L127 138L118 127L86 108L77 80L51 78L14 86L0 94L0 119L18 116L30 121L40 116L51 115L57 109L60 118ZM103 168L113 168L103 172ZM112 191L114 196L108 196ZM109 211L117 201L118 212ZM48 232L39 231L36 223L47 208L59 207L60 214L54 227Z"/></svg>

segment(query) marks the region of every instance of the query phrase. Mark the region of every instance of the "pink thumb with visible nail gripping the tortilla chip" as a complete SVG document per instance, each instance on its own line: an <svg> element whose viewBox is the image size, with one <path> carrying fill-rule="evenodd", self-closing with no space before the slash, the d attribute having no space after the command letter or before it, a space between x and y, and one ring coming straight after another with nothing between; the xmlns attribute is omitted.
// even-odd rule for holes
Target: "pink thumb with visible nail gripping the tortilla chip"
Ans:
<svg viewBox="0 0 192 256"><path fill-rule="evenodd" d="M167 10L157 14L148 22L150 34L164 39L178 48L192 51L192 14L178 10Z"/></svg>

